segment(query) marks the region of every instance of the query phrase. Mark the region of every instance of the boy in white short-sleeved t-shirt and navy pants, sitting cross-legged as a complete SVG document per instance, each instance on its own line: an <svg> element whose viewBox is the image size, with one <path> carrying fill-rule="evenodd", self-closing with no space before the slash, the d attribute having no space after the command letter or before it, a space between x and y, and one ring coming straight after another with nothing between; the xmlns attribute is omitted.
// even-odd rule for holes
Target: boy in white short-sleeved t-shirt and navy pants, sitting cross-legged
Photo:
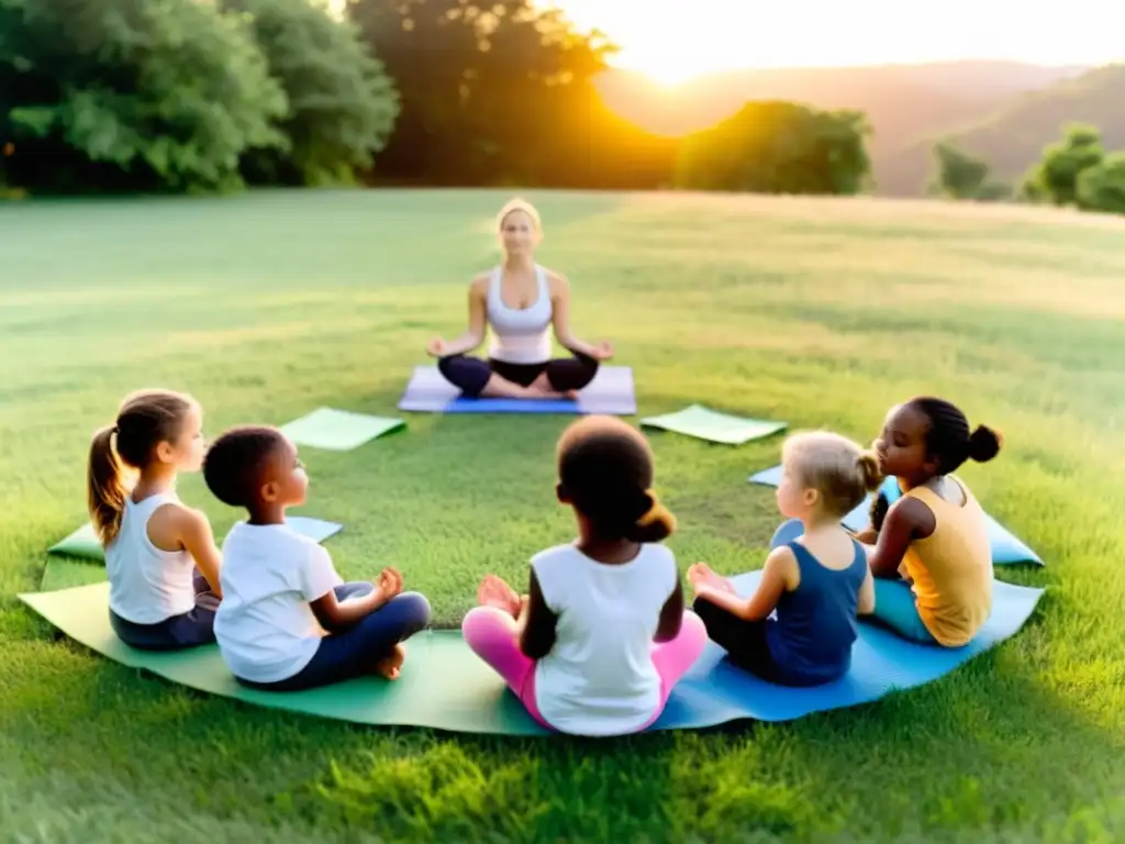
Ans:
<svg viewBox="0 0 1125 844"><path fill-rule="evenodd" d="M362 674L396 679L402 643L430 623L430 603L404 593L394 568L375 585L343 583L327 550L286 527L286 508L304 503L308 477L285 434L226 431L207 452L204 479L215 497L249 514L223 542L215 637L231 672L276 691Z"/></svg>

